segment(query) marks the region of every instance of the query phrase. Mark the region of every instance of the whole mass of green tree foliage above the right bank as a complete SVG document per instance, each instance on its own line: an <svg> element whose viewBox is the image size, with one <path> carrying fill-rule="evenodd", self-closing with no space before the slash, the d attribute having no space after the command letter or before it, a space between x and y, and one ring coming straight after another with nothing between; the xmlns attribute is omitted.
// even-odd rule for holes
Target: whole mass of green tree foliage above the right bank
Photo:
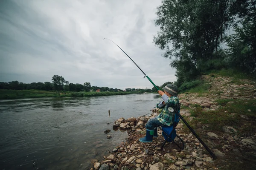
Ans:
<svg viewBox="0 0 256 170"><path fill-rule="evenodd" d="M240 78L255 78L255 13L256 0L163 0L157 8L160 31L154 43L172 60L175 85L187 86L198 75L221 69L228 76L238 76L239 71ZM230 26L235 34L226 36Z"/></svg>

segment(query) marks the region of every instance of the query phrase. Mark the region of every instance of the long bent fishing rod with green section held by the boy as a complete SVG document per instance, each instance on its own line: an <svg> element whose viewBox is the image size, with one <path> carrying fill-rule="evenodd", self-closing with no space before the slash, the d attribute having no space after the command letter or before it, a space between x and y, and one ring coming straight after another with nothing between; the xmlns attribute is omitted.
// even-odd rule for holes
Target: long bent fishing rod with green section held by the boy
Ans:
<svg viewBox="0 0 256 170"><path fill-rule="evenodd" d="M108 38L103 38L103 40L109 40ZM112 40L110 40L111 42L113 42ZM116 46L118 46L115 42L113 42ZM118 48L120 48L119 46L118 46ZM122 50L122 48L120 48L120 50ZM123 50L122 50L123 51ZM125 53L125 51L123 51L124 53ZM126 53L125 53L126 54ZM127 55L127 57L129 57L128 56L128 54L126 54ZM131 59L131 57L129 57L129 59ZM131 61L132 62L134 62L132 59L131 59ZM134 64L140 69L140 71L142 71L142 69L134 62ZM144 71L142 71L143 72L143 74L145 75L144 76L144 78L145 77L147 77L148 78L148 80L152 83L152 85L154 85L154 87L157 89L157 91L159 91L159 89L157 88L157 86L154 84L154 82L152 82L152 80L144 73ZM204 146L204 148L209 152L209 154L212 156L212 158L213 159L216 159L217 157L215 156L215 154L214 153L212 153L212 151L209 149L209 147L207 147L207 145L202 141L202 139L195 133L195 131L192 129L192 127L190 127L190 125L186 122L186 120L180 115L180 113L179 112L177 112L176 113L179 117L180 117L180 119L185 123L185 125L189 128L189 130L195 135L195 137L198 139L198 141Z"/></svg>

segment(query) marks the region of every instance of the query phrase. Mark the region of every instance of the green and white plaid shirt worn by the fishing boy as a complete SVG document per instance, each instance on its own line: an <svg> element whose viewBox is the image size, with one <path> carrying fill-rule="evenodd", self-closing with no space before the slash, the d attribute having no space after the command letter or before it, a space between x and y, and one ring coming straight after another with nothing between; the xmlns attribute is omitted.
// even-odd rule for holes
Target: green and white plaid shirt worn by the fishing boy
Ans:
<svg viewBox="0 0 256 170"><path fill-rule="evenodd" d="M156 117L156 119L163 123L163 125L170 126L174 122L174 114L175 112L169 112L169 107L175 107L179 103L179 99L175 96L168 97L166 94L162 96L165 105L162 102L157 103L157 108L163 109L160 115Z"/></svg>

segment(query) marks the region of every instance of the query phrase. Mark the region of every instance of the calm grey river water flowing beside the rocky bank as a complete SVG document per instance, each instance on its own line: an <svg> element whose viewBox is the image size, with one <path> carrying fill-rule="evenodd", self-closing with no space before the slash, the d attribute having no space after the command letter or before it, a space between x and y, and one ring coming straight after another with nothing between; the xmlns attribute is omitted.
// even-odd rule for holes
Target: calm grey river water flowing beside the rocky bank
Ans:
<svg viewBox="0 0 256 170"><path fill-rule="evenodd" d="M125 142L116 119L151 113L157 101L156 94L0 100L0 170L33 170L33 161L41 170L88 169Z"/></svg>

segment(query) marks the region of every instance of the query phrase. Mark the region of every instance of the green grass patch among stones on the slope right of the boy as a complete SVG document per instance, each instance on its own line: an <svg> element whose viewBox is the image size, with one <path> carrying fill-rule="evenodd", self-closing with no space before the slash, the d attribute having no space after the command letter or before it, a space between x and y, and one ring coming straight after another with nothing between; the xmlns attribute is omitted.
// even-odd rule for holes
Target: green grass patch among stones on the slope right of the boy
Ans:
<svg viewBox="0 0 256 170"><path fill-rule="evenodd" d="M195 128L196 124L201 122L203 125L210 125L207 130L211 131L221 131L223 126L228 125L236 128L241 136L256 132L256 125L254 123L256 121L256 99L236 100L234 103L227 105L227 102L231 101L234 100L216 100L219 105L222 105L222 108L217 111L205 111L199 105L191 105L192 108L189 108L190 113L195 118L189 122L189 125ZM250 112L248 109L250 109ZM227 112L225 113L225 111ZM247 116L249 120L242 119L240 115Z"/></svg>

